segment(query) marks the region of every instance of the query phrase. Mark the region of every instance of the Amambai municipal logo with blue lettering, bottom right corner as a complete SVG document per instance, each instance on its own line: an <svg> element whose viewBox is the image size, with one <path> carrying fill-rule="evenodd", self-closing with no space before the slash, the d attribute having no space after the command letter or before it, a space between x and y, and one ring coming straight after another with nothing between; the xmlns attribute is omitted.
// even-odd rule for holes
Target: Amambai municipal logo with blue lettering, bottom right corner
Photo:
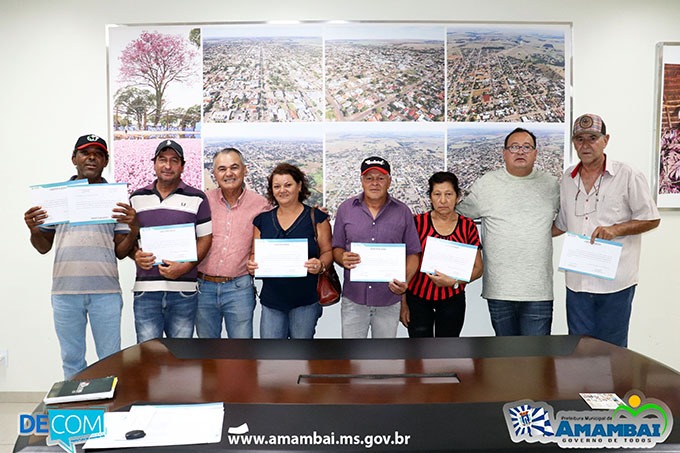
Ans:
<svg viewBox="0 0 680 453"><path fill-rule="evenodd" d="M503 406L513 442L557 443L563 448L652 448L673 429L673 415L662 401L633 390L614 410L560 411L531 400Z"/></svg>

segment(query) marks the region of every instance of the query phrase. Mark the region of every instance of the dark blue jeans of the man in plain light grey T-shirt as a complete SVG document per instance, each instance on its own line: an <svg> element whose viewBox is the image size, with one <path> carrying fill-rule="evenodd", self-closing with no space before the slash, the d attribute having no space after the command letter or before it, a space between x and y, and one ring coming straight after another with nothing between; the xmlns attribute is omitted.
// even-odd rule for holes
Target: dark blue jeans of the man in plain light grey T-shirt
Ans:
<svg viewBox="0 0 680 453"><path fill-rule="evenodd" d="M491 325L497 336L550 335L552 300L488 299Z"/></svg>

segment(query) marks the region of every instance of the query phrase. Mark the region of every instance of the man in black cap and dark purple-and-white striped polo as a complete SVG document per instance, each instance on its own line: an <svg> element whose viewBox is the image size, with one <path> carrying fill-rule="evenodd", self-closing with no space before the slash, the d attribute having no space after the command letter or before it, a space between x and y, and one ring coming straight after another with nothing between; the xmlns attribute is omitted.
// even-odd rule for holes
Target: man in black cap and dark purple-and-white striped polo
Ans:
<svg viewBox="0 0 680 453"><path fill-rule="evenodd" d="M139 343L165 335L191 338L198 307L196 265L210 249L212 223L205 194L182 181L184 150L174 140L163 140L153 158L156 180L136 190L130 204L141 227L192 223L196 230L196 262L164 259L154 265L153 250L135 250L137 279L134 291L135 330Z"/></svg>

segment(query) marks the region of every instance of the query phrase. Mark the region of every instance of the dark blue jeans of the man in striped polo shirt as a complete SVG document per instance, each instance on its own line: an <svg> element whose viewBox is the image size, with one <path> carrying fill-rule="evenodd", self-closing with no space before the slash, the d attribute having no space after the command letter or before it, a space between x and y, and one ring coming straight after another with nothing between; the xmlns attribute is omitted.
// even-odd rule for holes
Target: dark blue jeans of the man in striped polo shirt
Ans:
<svg viewBox="0 0 680 453"><path fill-rule="evenodd" d="M137 343L153 338L191 338L198 306L198 292L135 291Z"/></svg>

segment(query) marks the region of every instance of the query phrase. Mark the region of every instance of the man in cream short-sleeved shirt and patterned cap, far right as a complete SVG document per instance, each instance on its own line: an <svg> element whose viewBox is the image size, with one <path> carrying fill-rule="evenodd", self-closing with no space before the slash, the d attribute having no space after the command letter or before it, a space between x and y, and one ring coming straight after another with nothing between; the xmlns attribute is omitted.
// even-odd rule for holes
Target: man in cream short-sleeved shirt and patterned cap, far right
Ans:
<svg viewBox="0 0 680 453"><path fill-rule="evenodd" d="M572 335L590 335L628 345L628 326L638 280L640 235L661 222L645 177L608 160L607 127L587 113L574 122L572 143L580 162L562 177L560 214L553 234L569 231L623 244L614 280L566 272L567 325Z"/></svg>

